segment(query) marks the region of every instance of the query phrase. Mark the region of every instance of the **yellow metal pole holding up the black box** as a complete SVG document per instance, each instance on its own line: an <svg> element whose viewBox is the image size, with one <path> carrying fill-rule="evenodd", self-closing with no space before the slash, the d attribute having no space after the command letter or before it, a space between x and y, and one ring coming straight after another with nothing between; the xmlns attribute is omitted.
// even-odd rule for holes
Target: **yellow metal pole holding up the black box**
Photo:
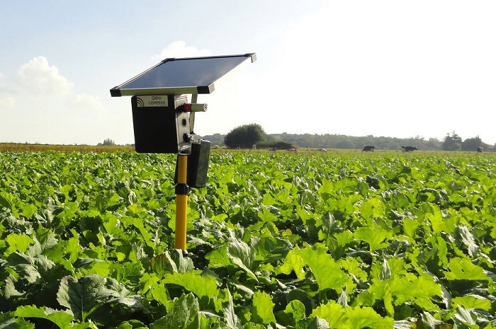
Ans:
<svg viewBox="0 0 496 329"><path fill-rule="evenodd" d="M178 155L176 185L176 249L186 251L186 209L188 207L188 156Z"/></svg>

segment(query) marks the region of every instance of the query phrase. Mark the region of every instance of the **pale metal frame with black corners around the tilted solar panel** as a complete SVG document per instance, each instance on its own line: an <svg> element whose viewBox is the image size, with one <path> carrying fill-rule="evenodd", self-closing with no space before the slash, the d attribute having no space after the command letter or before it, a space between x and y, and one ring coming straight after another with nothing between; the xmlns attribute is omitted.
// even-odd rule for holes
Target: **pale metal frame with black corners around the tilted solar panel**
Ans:
<svg viewBox="0 0 496 329"><path fill-rule="evenodd" d="M227 68L226 67L224 68L225 72L223 72L222 74L216 74L215 72L212 71L208 72L208 74L210 74L210 79L208 79L206 83L196 84L194 86L157 86L157 87L133 86L132 88L126 88L126 86L130 86L133 83L136 83L137 81L147 78L147 76L152 76L153 74L156 74L156 70L167 69L167 67L162 67L162 66L166 66L169 63L173 63L173 62L177 63L181 61L184 62L185 64L199 64L200 62L208 62L208 60L212 60L212 59L217 61L222 59L233 59L233 58L240 59L240 61L235 64L230 63L230 65L227 66ZM167 58L164 59L159 64L150 67L150 69L143 71L142 73L138 74L132 79L129 79L128 81L121 83L119 86L115 86L114 88L112 88L111 96L120 97L120 96L181 95L181 94L212 93L215 90L215 86L214 86L215 81L218 81L218 79L220 79L222 76L232 71L232 69L235 69L236 67L239 67L239 65L245 63L247 59L251 59L251 62L255 62L255 60L257 60L257 55L255 53L248 53L248 54L209 56L209 57ZM223 61L223 62L227 63L228 61ZM207 71L208 69L209 68L206 67L205 71ZM203 72L198 71L195 73L202 74L205 73L205 71ZM188 71L187 73L191 74L192 72ZM181 73L176 72L176 74L180 75Z"/></svg>

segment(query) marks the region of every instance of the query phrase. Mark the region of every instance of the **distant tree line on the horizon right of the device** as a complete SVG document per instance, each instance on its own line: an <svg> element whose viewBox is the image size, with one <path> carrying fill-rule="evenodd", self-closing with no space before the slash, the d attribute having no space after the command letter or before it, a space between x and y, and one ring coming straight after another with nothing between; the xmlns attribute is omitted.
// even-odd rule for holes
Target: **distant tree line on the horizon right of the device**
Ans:
<svg viewBox="0 0 496 329"><path fill-rule="evenodd" d="M225 146L231 149L249 149L253 144L257 149L363 149L363 146L373 145L376 150L400 150L401 146L417 146L419 150L444 151L475 151L482 147L484 151L496 151L496 144L483 142L480 137L462 139L456 132L446 134L443 140L424 137L363 137L346 136L341 134L265 134L264 129L257 124L244 125L232 129L228 134L213 134L203 136L212 145Z"/></svg>

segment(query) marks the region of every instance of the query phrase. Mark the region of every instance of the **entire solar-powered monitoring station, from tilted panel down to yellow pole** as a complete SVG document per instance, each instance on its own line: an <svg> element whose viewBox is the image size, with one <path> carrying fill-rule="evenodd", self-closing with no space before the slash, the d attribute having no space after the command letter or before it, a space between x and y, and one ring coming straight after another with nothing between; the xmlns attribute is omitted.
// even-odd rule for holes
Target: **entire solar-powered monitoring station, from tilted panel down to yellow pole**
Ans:
<svg viewBox="0 0 496 329"><path fill-rule="evenodd" d="M250 59L250 61L247 61ZM190 187L204 187L207 181L210 142L194 132L195 113L205 112L198 94L212 93L214 83L242 63L257 56L167 58L134 78L111 89L112 97L132 96L135 149L141 153L177 154L176 249L186 251L186 212ZM191 95L191 103L188 96Z"/></svg>

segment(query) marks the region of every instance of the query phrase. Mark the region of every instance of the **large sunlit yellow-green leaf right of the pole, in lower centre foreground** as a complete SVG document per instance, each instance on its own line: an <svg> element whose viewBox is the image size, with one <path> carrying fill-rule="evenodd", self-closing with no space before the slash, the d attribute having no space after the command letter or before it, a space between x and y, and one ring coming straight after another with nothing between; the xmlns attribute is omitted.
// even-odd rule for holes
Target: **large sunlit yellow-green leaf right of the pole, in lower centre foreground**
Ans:
<svg viewBox="0 0 496 329"><path fill-rule="evenodd" d="M327 248L322 245L316 245L312 248L295 250L305 262L319 286L319 290L334 289L341 292L342 287L350 281L349 277L343 272L339 265L334 261L331 255L327 253Z"/></svg>

